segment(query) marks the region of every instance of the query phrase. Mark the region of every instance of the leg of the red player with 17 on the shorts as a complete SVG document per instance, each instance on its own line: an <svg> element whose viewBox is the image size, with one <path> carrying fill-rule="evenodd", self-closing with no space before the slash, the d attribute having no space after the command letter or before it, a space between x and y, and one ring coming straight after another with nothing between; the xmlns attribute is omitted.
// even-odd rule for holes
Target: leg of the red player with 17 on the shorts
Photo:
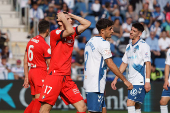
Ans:
<svg viewBox="0 0 170 113"><path fill-rule="evenodd" d="M63 76L47 75L42 87L39 101L42 103L40 113L50 113L63 86Z"/></svg>

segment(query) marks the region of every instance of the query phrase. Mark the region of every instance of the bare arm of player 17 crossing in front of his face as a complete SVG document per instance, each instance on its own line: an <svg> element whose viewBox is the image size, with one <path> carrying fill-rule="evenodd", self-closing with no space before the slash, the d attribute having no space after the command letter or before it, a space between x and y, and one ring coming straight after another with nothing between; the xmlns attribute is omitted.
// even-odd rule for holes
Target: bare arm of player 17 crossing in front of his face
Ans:
<svg viewBox="0 0 170 113"><path fill-rule="evenodd" d="M66 15L63 12L59 12L57 13L57 21L58 22L63 22L64 26L65 26L65 30L63 32L63 37L68 37L70 35L74 34L74 29L71 25L71 23L69 23L68 19L71 19L69 17L66 17Z"/></svg>

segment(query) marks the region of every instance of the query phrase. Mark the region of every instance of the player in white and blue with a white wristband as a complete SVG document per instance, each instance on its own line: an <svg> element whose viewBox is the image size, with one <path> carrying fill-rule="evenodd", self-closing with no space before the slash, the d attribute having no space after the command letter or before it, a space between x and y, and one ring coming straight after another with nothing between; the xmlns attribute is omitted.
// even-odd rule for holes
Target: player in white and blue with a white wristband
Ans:
<svg viewBox="0 0 170 113"><path fill-rule="evenodd" d="M119 67L120 72L123 73L129 66L128 81L133 85L133 89L128 90L128 113L141 113L140 104L143 103L146 92L149 92L151 89L150 47L144 40L140 39L143 30L144 27L140 23L132 25L130 31L130 39L132 41L127 45L122 58L123 62ZM116 90L117 79L118 77L115 77L111 83L114 90Z"/></svg>

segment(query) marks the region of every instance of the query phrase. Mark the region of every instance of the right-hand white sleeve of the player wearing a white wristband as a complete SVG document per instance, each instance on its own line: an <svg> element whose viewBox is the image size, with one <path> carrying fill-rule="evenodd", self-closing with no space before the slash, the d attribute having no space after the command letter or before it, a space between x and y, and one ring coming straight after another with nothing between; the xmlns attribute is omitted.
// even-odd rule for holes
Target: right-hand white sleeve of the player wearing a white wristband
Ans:
<svg viewBox="0 0 170 113"><path fill-rule="evenodd" d="M151 53L150 53L150 47L148 44L144 43L145 45L142 46L141 54L144 62L151 62Z"/></svg>

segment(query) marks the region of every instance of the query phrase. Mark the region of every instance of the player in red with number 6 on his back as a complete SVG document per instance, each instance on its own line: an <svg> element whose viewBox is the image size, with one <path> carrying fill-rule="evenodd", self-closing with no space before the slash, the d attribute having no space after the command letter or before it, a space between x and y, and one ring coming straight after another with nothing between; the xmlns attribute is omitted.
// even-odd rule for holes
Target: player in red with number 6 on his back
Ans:
<svg viewBox="0 0 170 113"><path fill-rule="evenodd" d="M38 98L47 75L47 64L48 66L50 64L51 49L45 42L45 37L50 32L49 22L46 20L40 21L38 29L39 35L30 39L24 56L25 79L23 86L28 88L30 84L32 95L32 101L24 113L39 113L41 103L38 101ZM29 72L28 67L30 68Z"/></svg>

